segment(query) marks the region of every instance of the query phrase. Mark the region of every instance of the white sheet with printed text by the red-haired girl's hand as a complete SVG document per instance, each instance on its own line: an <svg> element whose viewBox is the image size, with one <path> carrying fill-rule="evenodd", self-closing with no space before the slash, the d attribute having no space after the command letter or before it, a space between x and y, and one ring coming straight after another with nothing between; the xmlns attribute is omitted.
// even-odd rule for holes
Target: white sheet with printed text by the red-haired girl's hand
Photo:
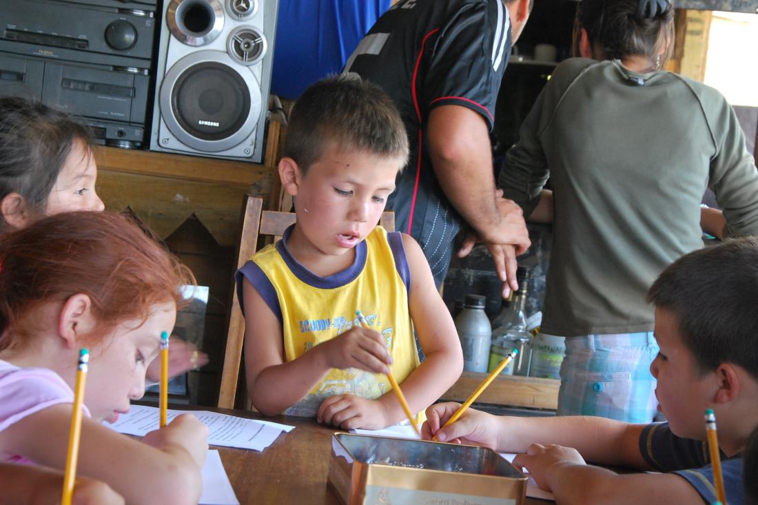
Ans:
<svg viewBox="0 0 758 505"><path fill-rule="evenodd" d="M224 447L240 447L242 449L264 450L274 443L282 431L292 431L294 426L280 425L271 421L257 421L236 416L227 416L208 410L175 410L166 411L166 422L171 422L180 414L193 414L204 425L208 426L208 444ZM133 405L129 413L122 414L109 428L119 433L144 436L149 431L158 428L160 410L158 407Z"/></svg>

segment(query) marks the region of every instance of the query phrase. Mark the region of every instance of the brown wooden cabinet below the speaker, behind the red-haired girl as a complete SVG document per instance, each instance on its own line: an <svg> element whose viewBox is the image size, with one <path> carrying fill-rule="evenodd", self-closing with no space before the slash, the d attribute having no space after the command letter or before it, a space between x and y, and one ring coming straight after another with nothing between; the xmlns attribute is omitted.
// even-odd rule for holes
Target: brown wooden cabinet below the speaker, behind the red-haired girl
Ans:
<svg viewBox="0 0 758 505"><path fill-rule="evenodd" d="M278 136L278 130L277 130ZM276 146L272 152L277 152ZM213 158L97 147L97 192L105 208L131 212L209 287L197 401L215 405L233 287L240 209L246 193L278 196L274 169ZM268 161L267 161L268 162ZM278 180L278 177L276 177Z"/></svg>

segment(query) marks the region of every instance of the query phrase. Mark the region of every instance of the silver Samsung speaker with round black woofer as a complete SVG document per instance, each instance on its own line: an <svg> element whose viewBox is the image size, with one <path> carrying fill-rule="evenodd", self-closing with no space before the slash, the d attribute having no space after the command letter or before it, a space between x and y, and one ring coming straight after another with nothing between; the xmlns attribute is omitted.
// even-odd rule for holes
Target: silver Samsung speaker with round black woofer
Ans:
<svg viewBox="0 0 758 505"><path fill-rule="evenodd" d="M150 149L261 162L277 0L165 0Z"/></svg>

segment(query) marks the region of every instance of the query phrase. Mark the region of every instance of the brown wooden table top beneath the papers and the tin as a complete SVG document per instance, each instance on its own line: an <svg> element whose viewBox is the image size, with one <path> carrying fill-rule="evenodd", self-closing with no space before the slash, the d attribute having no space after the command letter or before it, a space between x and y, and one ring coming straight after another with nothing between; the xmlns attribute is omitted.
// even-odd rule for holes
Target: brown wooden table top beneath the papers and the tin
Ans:
<svg viewBox="0 0 758 505"><path fill-rule="evenodd" d="M281 434L262 452L229 447L213 447L232 488L242 505L248 503L340 503L327 488L331 456L331 437L336 431L319 425L314 419L278 416L263 418L257 412L230 409L206 409L249 419L268 419L296 429ZM545 505L543 500L527 498L527 505Z"/></svg>

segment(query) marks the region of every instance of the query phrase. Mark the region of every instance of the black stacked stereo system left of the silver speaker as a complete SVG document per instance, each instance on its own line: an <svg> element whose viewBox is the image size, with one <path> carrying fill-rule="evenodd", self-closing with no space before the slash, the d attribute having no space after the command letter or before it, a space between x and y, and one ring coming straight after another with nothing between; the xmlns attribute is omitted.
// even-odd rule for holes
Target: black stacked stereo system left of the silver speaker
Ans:
<svg viewBox="0 0 758 505"><path fill-rule="evenodd" d="M146 142L156 0L2 0L0 96L75 114L96 142Z"/></svg>

